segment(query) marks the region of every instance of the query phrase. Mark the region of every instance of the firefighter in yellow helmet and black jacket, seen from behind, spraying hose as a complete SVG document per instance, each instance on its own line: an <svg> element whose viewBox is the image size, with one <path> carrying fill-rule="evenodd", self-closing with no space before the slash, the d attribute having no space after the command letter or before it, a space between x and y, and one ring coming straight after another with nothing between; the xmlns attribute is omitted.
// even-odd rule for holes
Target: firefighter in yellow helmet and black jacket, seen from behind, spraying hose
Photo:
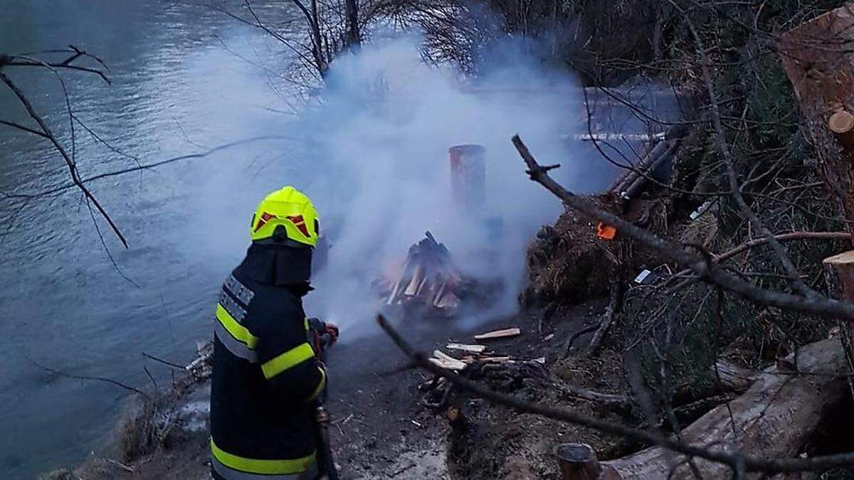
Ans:
<svg viewBox="0 0 854 480"><path fill-rule="evenodd" d="M211 465L218 479L318 477L315 402L326 369L309 321L309 284L319 221L292 186L266 196L252 218L252 244L225 280L216 306L211 378Z"/></svg>

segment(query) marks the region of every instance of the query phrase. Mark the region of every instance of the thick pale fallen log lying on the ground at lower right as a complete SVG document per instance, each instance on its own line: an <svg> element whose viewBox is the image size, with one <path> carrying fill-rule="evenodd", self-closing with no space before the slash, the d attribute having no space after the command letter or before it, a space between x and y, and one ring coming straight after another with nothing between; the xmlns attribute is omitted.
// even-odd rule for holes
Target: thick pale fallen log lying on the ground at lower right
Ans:
<svg viewBox="0 0 854 480"><path fill-rule="evenodd" d="M711 450L747 452L754 456L794 457L818 429L825 415L847 395L847 365L839 339L800 348L793 356L797 372L771 366L744 395L720 405L681 432L693 445ZM685 457L664 448L646 448L622 459L604 462L623 480L693 478ZM728 465L694 458L705 478L727 478ZM674 466L678 465L678 466ZM760 478L747 473L745 478Z"/></svg>

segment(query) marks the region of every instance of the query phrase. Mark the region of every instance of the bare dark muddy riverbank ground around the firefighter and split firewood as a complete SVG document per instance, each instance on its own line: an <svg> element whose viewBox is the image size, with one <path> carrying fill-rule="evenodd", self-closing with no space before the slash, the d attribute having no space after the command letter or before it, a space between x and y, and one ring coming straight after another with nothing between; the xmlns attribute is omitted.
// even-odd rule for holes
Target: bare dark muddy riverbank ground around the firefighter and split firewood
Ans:
<svg viewBox="0 0 854 480"><path fill-rule="evenodd" d="M614 413L562 397L549 383L557 379L603 392L623 389L619 361L607 352L599 360L560 360L566 339L594 325L604 303L562 308L546 317L543 309L533 308L469 328L448 319L398 323L396 328L412 344L431 351L449 341L473 342L472 335L479 332L518 326L521 336L488 341L489 348L519 360L546 357L544 375L491 386L608 417ZM584 341L582 337L577 343ZM605 458L630 447L594 431L517 414L465 395L449 396L465 418L452 427L443 411L419 404L424 392L418 385L430 379L427 373L395 372L405 359L376 325L359 338L342 338L327 360L334 419L330 434L342 478L557 478L552 452L559 442L591 443ZM207 400L207 384L186 396L180 431L154 454L127 464L92 457L73 472L55 472L53 478L208 478Z"/></svg>

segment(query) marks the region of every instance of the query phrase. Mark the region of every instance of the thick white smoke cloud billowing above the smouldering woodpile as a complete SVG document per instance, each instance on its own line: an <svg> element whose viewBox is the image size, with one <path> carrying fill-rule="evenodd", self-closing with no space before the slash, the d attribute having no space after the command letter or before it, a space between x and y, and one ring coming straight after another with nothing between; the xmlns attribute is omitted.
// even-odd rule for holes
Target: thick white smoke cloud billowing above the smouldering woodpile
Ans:
<svg viewBox="0 0 854 480"><path fill-rule="evenodd" d="M313 173L298 186L318 205L333 243L313 278L310 314L358 331L382 306L371 280L399 265L427 230L466 272L504 280L504 295L479 318L512 313L524 286L525 249L560 204L527 179L510 138L520 133L542 161L563 163L561 177L571 180L566 134L582 111L567 73L524 58L505 56L468 82L422 61L418 38L366 45L336 60L328 88L295 126L310 138L300 164ZM481 217L451 200L447 149L460 143L486 148ZM500 219L500 228L485 229L485 218ZM495 254L487 261L485 249Z"/></svg>

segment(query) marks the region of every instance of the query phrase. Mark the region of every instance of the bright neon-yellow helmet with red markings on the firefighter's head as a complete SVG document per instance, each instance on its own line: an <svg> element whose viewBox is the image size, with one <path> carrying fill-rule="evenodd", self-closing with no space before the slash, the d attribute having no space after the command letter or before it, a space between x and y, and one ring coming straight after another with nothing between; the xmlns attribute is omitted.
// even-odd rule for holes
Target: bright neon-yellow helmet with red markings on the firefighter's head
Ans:
<svg viewBox="0 0 854 480"><path fill-rule="evenodd" d="M272 238L278 225L284 226L289 240L308 247L318 242L318 212L311 199L290 185L264 197L252 216L249 235L253 242Z"/></svg>

